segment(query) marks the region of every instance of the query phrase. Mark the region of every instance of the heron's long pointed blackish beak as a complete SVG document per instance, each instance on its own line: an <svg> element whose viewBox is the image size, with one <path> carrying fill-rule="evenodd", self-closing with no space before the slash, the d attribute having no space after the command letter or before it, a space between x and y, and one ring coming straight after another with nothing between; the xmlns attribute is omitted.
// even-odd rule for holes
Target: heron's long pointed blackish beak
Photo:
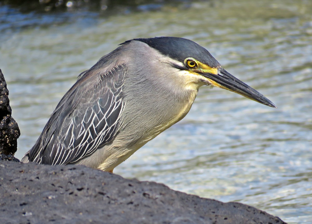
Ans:
<svg viewBox="0 0 312 224"><path fill-rule="evenodd" d="M218 69L218 74L202 73L202 75L211 80L211 85L213 86L238 93L261 104L276 108L275 104L272 103L268 98L248 86L246 83L241 82L241 80L232 76L223 68Z"/></svg>

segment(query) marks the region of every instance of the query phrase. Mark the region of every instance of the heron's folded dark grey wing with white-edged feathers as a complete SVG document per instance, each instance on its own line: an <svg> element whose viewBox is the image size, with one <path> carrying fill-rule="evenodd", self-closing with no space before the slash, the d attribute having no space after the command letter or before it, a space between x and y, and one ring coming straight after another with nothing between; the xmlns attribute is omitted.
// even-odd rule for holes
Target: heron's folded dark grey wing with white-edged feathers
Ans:
<svg viewBox="0 0 312 224"><path fill-rule="evenodd" d="M105 73L85 72L57 105L29 151L30 161L73 163L112 141L122 124L125 73L123 65ZM85 83L91 75L98 79L90 88Z"/></svg>

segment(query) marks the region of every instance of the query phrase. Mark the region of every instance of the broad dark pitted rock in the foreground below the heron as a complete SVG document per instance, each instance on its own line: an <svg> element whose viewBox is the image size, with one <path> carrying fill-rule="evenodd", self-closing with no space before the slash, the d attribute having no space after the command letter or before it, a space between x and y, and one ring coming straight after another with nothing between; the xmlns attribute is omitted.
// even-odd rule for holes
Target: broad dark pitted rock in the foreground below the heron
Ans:
<svg viewBox="0 0 312 224"><path fill-rule="evenodd" d="M84 166L0 160L0 177L0 219L5 224L285 223L241 203L200 198Z"/></svg>

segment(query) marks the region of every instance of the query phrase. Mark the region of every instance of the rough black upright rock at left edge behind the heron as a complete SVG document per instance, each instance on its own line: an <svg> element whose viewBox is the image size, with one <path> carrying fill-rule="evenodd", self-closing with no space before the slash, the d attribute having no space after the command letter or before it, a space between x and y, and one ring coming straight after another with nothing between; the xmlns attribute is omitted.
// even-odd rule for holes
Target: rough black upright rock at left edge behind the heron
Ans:
<svg viewBox="0 0 312 224"><path fill-rule="evenodd" d="M12 109L8 98L7 83L0 69L0 154L14 155L17 138L21 135L16 121L11 117Z"/></svg>

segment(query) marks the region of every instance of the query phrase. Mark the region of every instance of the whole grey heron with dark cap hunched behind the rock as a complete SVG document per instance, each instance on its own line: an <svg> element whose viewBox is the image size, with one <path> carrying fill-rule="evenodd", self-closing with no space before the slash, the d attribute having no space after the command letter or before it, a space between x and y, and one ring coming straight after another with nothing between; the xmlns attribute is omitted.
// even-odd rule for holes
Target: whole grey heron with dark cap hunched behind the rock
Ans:
<svg viewBox="0 0 312 224"><path fill-rule="evenodd" d="M191 40L128 40L80 74L22 162L82 164L112 172L181 120L203 85L276 107Z"/></svg>

